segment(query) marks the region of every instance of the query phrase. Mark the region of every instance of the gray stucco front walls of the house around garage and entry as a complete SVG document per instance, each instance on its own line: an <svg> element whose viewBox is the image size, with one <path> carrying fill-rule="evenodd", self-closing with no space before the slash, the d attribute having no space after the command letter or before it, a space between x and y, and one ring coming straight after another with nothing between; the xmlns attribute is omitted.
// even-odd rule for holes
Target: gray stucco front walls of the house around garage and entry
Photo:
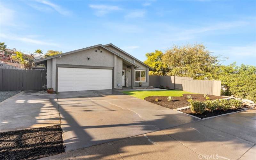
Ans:
<svg viewBox="0 0 256 160"><path fill-rule="evenodd" d="M123 52L109 47L111 50L115 50L119 54L123 55L127 59L135 62L140 66L140 69L147 70L147 82L142 82L143 86L148 86L148 67L127 56ZM95 52L97 50L97 52ZM102 52L100 52L102 51ZM90 57L88 60L87 57ZM47 87L52 87L56 91L56 64L68 64L68 65L84 65L84 66L101 66L101 67L113 67L113 88L117 88L117 84L120 84L122 88L122 70L126 69L125 74L128 77L129 86L139 86L139 82L135 82L135 69L128 65L123 64L123 59L114 55L113 53L105 50L104 48L92 48L77 53L72 53L60 57L56 57L47 60ZM138 69L138 68L137 68ZM130 70L130 72L128 72Z"/></svg>

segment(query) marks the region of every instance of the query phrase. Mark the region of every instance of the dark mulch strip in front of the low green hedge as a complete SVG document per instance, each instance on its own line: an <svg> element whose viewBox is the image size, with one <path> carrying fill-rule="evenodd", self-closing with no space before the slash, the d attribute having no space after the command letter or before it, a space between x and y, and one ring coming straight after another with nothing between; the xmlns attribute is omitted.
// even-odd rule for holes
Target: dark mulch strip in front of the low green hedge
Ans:
<svg viewBox="0 0 256 160"><path fill-rule="evenodd" d="M232 112L236 112L236 111L240 111L240 110L244 110L244 109L242 109L242 108L234 108L234 109L227 109L227 110L216 109L212 112L206 110L203 114L199 114L199 113L195 113L195 112L191 111L191 109L188 108L188 109L180 110L180 112L187 113L189 115L196 116L199 118L207 118L207 117L218 116L218 115L222 115L222 114L226 114L226 113L232 113Z"/></svg>

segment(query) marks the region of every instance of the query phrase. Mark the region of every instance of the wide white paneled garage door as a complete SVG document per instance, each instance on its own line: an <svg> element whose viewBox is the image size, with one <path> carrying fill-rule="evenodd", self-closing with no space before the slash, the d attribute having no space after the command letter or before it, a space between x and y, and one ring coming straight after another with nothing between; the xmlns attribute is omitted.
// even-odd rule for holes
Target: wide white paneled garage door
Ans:
<svg viewBox="0 0 256 160"><path fill-rule="evenodd" d="M112 89L112 69L58 67L58 92Z"/></svg>

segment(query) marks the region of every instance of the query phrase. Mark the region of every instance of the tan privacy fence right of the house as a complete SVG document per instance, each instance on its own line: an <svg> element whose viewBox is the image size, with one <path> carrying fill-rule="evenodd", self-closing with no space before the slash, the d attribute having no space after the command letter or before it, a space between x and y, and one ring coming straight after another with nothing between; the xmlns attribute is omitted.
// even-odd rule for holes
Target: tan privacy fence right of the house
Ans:
<svg viewBox="0 0 256 160"><path fill-rule="evenodd" d="M220 96L221 89L221 81L195 80L191 77L179 76L149 76L149 85L216 96Z"/></svg>

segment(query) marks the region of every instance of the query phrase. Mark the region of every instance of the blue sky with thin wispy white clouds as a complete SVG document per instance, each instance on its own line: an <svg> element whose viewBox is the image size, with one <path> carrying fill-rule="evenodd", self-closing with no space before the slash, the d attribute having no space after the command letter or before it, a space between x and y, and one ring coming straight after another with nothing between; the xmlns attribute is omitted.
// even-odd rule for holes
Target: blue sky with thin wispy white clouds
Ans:
<svg viewBox="0 0 256 160"><path fill-rule="evenodd" d="M147 52L203 43L214 55L256 65L256 1L4 1L0 41L9 48L68 52L113 43ZM223 58L221 58L223 59Z"/></svg>

